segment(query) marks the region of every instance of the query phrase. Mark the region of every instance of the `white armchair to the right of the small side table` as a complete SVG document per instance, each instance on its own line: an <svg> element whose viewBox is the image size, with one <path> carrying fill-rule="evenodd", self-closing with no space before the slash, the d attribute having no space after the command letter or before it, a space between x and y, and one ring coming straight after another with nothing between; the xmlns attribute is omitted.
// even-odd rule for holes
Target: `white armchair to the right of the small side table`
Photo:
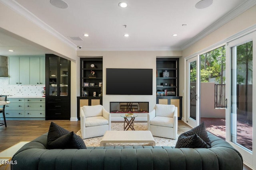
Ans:
<svg viewBox="0 0 256 170"><path fill-rule="evenodd" d="M153 136L176 139L178 131L178 107L156 104L148 113L148 131Z"/></svg>

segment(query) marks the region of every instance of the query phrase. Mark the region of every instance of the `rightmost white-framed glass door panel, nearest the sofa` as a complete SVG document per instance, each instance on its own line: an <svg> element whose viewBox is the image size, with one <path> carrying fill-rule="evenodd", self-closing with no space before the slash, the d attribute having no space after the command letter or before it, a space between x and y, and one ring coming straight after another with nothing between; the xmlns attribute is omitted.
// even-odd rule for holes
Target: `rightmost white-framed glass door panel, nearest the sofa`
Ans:
<svg viewBox="0 0 256 170"><path fill-rule="evenodd" d="M253 127L255 126L255 33L250 33L228 43L227 57L230 59L230 79L227 92L230 96L226 115L229 116L230 129L227 141L238 149L244 161L253 164L255 160L255 144L253 143ZM254 101L254 104L253 104ZM254 163L255 164L255 163ZM255 166L255 165L254 165Z"/></svg>

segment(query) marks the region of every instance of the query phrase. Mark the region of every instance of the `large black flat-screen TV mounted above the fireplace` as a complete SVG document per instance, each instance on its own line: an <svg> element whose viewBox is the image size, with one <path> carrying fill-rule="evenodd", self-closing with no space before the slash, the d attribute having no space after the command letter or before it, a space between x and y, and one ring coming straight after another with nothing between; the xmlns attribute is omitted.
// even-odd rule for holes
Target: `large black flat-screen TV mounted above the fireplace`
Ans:
<svg viewBox="0 0 256 170"><path fill-rule="evenodd" d="M106 94L152 95L152 69L107 68Z"/></svg>

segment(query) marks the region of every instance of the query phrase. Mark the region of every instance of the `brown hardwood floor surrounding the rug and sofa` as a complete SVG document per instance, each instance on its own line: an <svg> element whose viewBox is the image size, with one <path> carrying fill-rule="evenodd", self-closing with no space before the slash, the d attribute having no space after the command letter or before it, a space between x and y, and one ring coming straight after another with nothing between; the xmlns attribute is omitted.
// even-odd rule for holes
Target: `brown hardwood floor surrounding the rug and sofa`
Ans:
<svg viewBox="0 0 256 170"><path fill-rule="evenodd" d="M80 130L80 121L53 120L53 122L68 131L74 131L74 133ZM36 137L47 133L50 123L50 120L8 120L7 127L0 126L0 152L18 142L32 141ZM178 135L190 129L192 128L186 123L181 120L178 121ZM244 170L251 169L244 165Z"/></svg>

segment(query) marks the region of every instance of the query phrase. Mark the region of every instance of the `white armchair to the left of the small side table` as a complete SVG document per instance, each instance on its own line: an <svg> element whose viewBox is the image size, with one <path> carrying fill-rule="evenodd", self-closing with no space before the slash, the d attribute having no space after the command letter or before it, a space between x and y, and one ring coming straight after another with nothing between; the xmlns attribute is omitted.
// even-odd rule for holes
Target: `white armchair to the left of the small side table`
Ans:
<svg viewBox="0 0 256 170"><path fill-rule="evenodd" d="M111 130L111 114L102 105L80 107L82 139L103 136Z"/></svg>

